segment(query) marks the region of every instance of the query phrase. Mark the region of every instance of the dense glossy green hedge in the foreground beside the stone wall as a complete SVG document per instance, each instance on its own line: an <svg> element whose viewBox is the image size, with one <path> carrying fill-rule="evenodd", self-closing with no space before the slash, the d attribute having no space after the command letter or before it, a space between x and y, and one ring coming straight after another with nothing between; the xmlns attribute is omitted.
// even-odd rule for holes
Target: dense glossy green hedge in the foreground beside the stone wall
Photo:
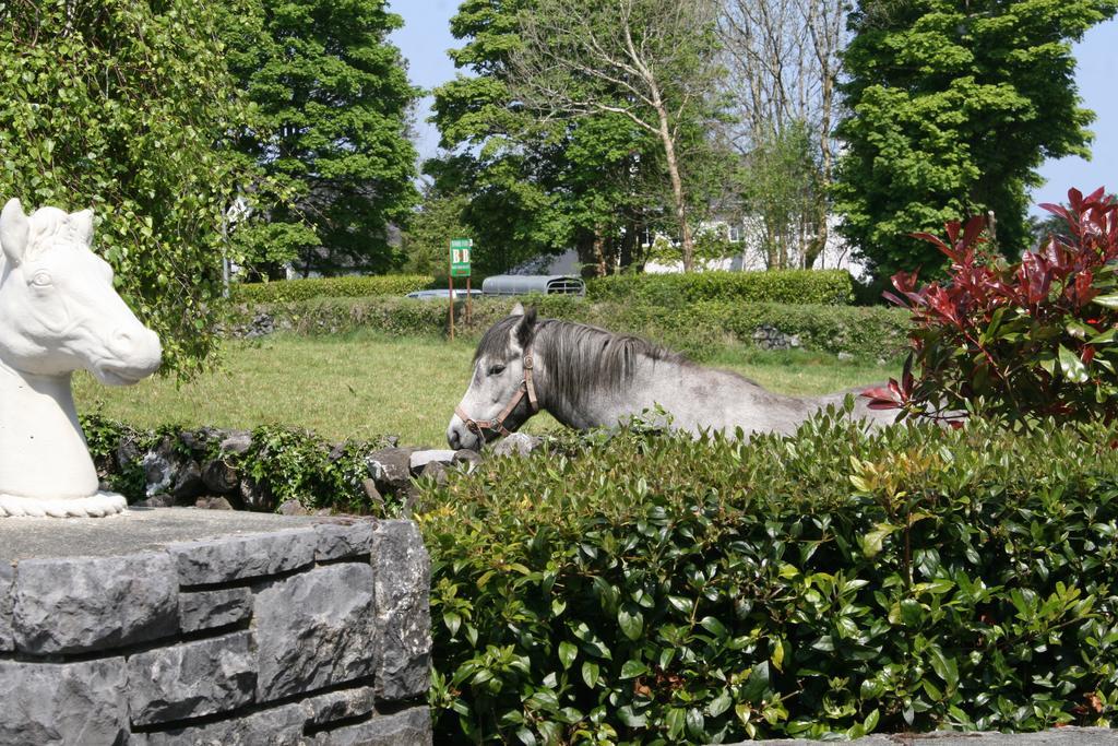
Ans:
<svg viewBox="0 0 1118 746"><path fill-rule="evenodd" d="M428 487L436 740L1109 725L1116 438L627 432Z"/></svg>

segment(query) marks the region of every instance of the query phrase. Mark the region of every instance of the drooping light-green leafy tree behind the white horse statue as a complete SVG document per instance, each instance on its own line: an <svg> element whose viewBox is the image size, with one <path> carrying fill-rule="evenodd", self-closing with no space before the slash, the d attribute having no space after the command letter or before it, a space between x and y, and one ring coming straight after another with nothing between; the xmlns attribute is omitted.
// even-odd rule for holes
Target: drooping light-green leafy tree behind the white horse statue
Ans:
<svg viewBox="0 0 1118 746"><path fill-rule="evenodd" d="M182 375L215 349L221 217L252 180L220 28L193 0L0 6L0 196L94 208L94 249Z"/></svg>

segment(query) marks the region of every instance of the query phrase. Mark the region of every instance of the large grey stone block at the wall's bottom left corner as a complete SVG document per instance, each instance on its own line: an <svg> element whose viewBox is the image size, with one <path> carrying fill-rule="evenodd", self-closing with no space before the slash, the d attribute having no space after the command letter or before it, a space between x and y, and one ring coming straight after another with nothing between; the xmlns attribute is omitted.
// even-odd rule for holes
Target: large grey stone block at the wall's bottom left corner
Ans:
<svg viewBox="0 0 1118 746"><path fill-rule="evenodd" d="M123 658L0 661L0 744L127 743Z"/></svg>

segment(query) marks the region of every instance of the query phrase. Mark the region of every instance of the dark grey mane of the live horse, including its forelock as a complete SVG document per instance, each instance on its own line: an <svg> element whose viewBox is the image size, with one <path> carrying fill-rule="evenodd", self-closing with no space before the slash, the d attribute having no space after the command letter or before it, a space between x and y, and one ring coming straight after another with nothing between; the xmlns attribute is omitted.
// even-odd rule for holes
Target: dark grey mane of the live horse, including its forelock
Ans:
<svg viewBox="0 0 1118 746"><path fill-rule="evenodd" d="M503 358L509 351L509 336L522 317L509 317L485 332L477 350L476 362L483 355ZM536 322L532 349L547 360L549 394L579 405L591 393L610 394L623 390L632 380L638 358L692 366L686 357L639 337L615 334L599 327L540 319Z"/></svg>

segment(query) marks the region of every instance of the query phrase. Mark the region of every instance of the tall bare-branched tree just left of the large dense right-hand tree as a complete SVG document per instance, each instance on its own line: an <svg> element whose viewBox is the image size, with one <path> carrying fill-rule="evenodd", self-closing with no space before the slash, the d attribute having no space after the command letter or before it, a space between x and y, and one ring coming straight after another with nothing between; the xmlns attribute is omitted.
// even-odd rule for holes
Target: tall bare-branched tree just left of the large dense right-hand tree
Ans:
<svg viewBox="0 0 1118 746"><path fill-rule="evenodd" d="M724 2L719 37L737 114L732 141L745 157L747 218L761 225L768 266L785 266L797 248L797 264L811 267L828 237L845 3ZM795 237L795 247L781 237Z"/></svg>

